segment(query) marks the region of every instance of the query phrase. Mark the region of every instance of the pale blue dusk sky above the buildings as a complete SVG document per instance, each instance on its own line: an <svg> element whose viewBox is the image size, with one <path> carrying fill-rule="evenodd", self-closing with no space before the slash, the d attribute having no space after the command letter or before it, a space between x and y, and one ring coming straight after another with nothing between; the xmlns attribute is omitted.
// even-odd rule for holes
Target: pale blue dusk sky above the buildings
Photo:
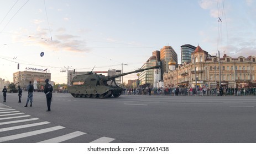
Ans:
<svg viewBox="0 0 256 154"><path fill-rule="evenodd" d="M185 44L221 57L256 54L254 0L0 0L0 12L0 78L11 82L26 67L48 68L59 84L68 67L106 71L125 63L130 72L167 45L179 64Z"/></svg>

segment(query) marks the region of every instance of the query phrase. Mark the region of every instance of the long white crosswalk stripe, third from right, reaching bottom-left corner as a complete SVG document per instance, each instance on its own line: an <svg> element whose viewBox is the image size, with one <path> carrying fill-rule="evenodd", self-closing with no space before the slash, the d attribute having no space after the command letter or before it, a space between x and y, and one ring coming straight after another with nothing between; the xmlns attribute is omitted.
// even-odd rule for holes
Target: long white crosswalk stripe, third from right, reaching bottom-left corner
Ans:
<svg viewBox="0 0 256 154"><path fill-rule="evenodd" d="M35 131L29 131L27 133L22 133L22 134L16 134L16 135L11 135L11 136L5 136L0 138L0 142L5 142L5 141L10 141L10 140L15 140L15 139L20 139L20 138L25 138L28 136L33 136L33 135L38 135L38 134L43 134L43 133L47 133L50 131L54 131L54 130L59 130L59 129L63 129L65 127L62 126L56 126L56 127L51 127L51 128L45 128L45 129L40 129L40 130L35 130Z"/></svg>

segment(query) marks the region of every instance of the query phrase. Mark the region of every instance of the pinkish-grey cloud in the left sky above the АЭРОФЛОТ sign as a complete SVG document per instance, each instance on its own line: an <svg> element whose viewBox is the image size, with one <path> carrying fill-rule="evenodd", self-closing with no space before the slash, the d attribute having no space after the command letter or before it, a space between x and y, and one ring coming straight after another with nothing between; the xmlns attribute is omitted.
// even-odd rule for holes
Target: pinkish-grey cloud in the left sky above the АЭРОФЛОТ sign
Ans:
<svg viewBox="0 0 256 154"><path fill-rule="evenodd" d="M36 32L31 32L28 29L20 29L13 32L15 42L23 42L25 46L40 46L47 48L49 51L66 51L66 52L90 52L90 49L86 46L86 41L80 40L80 36L71 34L65 34L66 29L60 27L56 32L56 35L52 37L49 34L48 29L42 29L37 27ZM30 34L30 35L24 35Z"/></svg>

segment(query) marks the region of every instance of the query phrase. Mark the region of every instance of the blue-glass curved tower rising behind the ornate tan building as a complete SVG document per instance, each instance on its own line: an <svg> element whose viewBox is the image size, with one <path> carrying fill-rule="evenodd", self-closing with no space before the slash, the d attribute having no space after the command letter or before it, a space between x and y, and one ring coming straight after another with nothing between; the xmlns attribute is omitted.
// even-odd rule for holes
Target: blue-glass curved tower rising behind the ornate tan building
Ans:
<svg viewBox="0 0 256 154"><path fill-rule="evenodd" d="M181 53L181 64L184 62L191 63L191 53L193 53L196 50L195 46L192 45L183 45L180 47L180 53Z"/></svg>

